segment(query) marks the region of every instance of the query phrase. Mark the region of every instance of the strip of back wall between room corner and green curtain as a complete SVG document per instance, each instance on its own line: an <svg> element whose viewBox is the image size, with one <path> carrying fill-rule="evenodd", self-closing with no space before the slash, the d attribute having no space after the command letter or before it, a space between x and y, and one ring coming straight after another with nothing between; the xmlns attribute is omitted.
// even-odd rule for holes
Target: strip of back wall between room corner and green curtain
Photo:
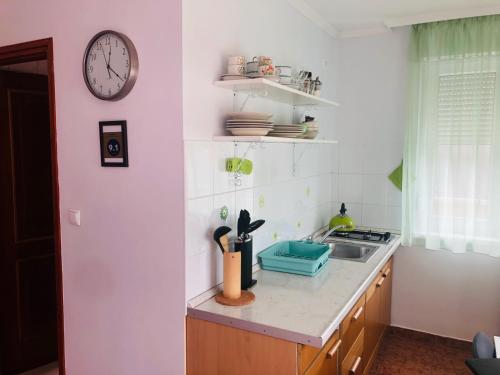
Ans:
<svg viewBox="0 0 500 375"><path fill-rule="evenodd" d="M343 39L339 48L338 201L358 225L399 230L407 31Z"/></svg>

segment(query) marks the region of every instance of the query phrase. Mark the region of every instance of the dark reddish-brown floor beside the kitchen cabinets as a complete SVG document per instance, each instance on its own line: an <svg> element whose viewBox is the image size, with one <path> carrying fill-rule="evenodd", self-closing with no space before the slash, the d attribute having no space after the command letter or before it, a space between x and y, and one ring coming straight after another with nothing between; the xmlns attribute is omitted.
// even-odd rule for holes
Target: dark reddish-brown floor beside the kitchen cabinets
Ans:
<svg viewBox="0 0 500 375"><path fill-rule="evenodd" d="M470 375L470 342L390 327L370 375Z"/></svg>

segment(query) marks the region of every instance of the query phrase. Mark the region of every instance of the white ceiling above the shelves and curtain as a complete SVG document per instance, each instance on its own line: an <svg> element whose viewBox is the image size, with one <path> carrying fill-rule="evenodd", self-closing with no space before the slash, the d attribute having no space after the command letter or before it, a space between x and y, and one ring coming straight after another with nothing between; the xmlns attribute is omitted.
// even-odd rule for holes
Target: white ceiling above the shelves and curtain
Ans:
<svg viewBox="0 0 500 375"><path fill-rule="evenodd" d="M289 0L336 37L431 21L500 14L500 0Z"/></svg>

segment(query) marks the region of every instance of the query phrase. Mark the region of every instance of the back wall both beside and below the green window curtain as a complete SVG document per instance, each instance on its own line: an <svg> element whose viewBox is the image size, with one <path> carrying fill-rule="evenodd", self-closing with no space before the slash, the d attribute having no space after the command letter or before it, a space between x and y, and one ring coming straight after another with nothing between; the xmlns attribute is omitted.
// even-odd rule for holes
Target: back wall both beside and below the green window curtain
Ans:
<svg viewBox="0 0 500 375"><path fill-rule="evenodd" d="M339 179L352 186L339 198L368 226L400 227L401 194L386 176L403 154L408 44L408 28L340 43ZM500 333L500 259L401 247L394 270L393 325L466 340Z"/></svg>

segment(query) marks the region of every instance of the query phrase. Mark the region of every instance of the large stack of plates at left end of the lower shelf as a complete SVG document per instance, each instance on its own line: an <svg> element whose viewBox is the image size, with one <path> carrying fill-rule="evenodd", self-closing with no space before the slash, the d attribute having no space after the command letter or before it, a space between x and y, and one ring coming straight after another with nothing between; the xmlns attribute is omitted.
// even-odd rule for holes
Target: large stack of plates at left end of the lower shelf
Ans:
<svg viewBox="0 0 500 375"><path fill-rule="evenodd" d="M273 130L272 113L233 112L227 115L226 130L233 135L263 136Z"/></svg>

